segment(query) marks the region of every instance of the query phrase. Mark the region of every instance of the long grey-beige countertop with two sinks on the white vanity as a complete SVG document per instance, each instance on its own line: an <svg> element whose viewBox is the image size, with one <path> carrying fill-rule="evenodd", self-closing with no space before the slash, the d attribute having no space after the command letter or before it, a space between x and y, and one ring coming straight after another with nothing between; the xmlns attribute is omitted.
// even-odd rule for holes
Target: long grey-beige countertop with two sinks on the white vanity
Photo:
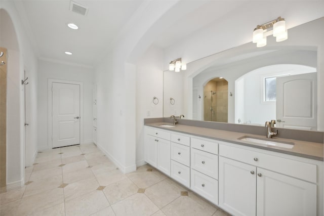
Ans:
<svg viewBox="0 0 324 216"><path fill-rule="evenodd" d="M288 148L281 148L281 147L277 147L277 146L259 145L259 144L254 144L254 143L248 142L248 141L238 140L238 138L241 138L243 136L251 136L251 137L262 138L262 139L264 139L265 136L254 135L254 134L244 134L244 133L230 132L230 131L222 131L219 129L188 126L188 125L183 125L183 124L177 124L175 127L160 126L160 125L166 125L166 124L172 125L172 124L166 123L166 122L145 123L146 126L157 127L159 129L165 129L170 132L179 132L179 133L184 133L184 134L188 134L188 135L205 137L205 138L215 139L215 140L219 140L219 141L235 143L238 145L250 146L250 147L254 147L254 148L265 149L265 150L269 150L269 151L310 158L310 159L314 159L314 160L320 160L320 161L324 160L323 159L323 144L322 143L313 143L313 142L305 142L305 141L281 139L281 138L280 139L272 138L271 140L269 140L269 141L293 142L295 144L294 147L292 149L288 149Z"/></svg>

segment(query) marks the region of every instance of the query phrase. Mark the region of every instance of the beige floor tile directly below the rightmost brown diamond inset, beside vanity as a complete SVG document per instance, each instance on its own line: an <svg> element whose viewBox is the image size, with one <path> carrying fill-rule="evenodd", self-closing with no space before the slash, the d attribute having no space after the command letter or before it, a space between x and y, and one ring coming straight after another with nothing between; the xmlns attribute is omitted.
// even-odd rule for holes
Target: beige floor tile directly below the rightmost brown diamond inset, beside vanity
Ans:
<svg viewBox="0 0 324 216"><path fill-rule="evenodd" d="M167 206L161 209L166 215L192 215L192 216L204 216L212 215L215 211L209 211L204 206L195 202L188 196L180 196Z"/></svg>

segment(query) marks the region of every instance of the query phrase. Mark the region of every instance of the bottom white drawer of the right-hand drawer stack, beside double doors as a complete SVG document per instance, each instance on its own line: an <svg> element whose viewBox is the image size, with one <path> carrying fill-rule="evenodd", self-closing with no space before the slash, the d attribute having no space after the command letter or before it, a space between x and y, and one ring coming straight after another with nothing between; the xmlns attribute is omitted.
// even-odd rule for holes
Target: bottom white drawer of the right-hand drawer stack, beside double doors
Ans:
<svg viewBox="0 0 324 216"><path fill-rule="evenodd" d="M191 190L218 205L218 181L191 169Z"/></svg>

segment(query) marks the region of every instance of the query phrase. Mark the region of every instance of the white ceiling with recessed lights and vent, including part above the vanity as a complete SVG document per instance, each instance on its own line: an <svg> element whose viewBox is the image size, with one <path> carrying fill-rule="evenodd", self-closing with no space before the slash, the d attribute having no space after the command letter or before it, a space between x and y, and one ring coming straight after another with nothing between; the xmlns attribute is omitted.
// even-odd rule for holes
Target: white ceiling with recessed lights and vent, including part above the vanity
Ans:
<svg viewBox="0 0 324 216"><path fill-rule="evenodd" d="M67 0L15 1L38 57L84 66L94 65L105 55L107 49L145 1L76 2L89 8L87 16L69 11L70 1ZM250 5L251 2L249 1ZM292 27L319 18L318 14L323 14L323 7L318 7L315 2L323 6L324 1L254 1L255 10L265 10L264 16L255 21L255 25L270 21L277 16L276 11L269 12L266 11L267 8L262 7L265 3L268 5L280 3L280 7L285 7L287 16L295 14L294 23L290 24ZM217 23L229 18L239 21L240 17L235 17L235 14L238 14L237 11L241 9L244 10L246 3L247 1L179 1L165 15L174 17L173 23L164 26L165 29L160 29L163 33L155 38L153 44L160 48L167 48L212 23L217 26ZM182 11L181 16L179 11ZM251 16L253 8L250 7L247 13ZM69 29L66 25L69 22L77 24L79 29ZM235 28L235 26L228 26L228 28ZM224 30L226 29L219 29L219 31ZM67 56L64 54L65 51L70 51L73 55Z"/></svg>

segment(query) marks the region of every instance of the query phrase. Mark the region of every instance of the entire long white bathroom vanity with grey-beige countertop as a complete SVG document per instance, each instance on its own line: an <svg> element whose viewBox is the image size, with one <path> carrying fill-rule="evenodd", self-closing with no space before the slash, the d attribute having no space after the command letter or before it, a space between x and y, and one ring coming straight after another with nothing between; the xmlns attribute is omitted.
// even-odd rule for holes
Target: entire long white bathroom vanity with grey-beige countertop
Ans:
<svg viewBox="0 0 324 216"><path fill-rule="evenodd" d="M322 143L161 121L144 128L147 163L233 215L323 215Z"/></svg>

